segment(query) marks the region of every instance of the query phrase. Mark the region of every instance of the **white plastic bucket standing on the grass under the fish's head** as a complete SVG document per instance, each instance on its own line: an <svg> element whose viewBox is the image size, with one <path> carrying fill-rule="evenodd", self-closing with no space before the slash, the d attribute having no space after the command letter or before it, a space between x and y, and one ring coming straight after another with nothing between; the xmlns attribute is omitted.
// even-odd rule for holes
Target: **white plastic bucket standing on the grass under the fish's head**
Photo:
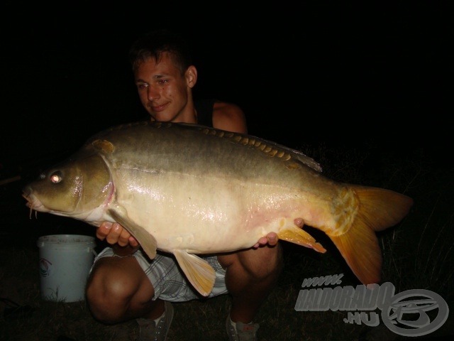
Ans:
<svg viewBox="0 0 454 341"><path fill-rule="evenodd" d="M38 238L40 289L45 301L85 299L85 284L94 261L94 237L52 234Z"/></svg>

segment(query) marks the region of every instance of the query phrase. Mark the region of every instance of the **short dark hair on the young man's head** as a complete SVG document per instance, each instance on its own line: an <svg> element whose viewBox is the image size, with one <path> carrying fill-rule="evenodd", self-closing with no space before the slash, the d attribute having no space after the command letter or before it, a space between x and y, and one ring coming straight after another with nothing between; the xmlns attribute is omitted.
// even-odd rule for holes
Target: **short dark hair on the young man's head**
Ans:
<svg viewBox="0 0 454 341"><path fill-rule="evenodd" d="M186 40L178 33L161 29L151 31L135 40L129 50L129 61L135 71L140 63L149 59L160 62L163 53L169 53L182 75L192 65L192 55Z"/></svg>

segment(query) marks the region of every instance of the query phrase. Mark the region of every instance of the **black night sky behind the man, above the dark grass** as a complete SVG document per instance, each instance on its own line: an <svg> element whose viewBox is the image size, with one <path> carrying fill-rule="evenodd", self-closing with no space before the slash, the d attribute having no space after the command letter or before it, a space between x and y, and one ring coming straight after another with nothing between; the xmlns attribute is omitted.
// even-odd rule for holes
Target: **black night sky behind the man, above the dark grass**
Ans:
<svg viewBox="0 0 454 341"><path fill-rule="evenodd" d="M4 1L2 177L58 158L101 129L145 118L126 56L135 38L160 27L191 40L196 96L239 104L250 134L295 148L423 148L448 162L448 3Z"/></svg>

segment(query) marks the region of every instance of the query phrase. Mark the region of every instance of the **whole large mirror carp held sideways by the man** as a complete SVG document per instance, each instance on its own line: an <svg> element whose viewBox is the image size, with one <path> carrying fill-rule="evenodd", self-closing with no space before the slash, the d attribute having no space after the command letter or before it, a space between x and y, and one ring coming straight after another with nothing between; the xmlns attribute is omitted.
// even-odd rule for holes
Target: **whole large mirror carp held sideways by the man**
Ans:
<svg viewBox="0 0 454 341"><path fill-rule="evenodd" d="M203 296L214 269L197 256L279 239L326 249L302 223L332 240L355 276L380 281L375 232L413 200L384 188L339 183L304 153L247 134L196 124L135 122L101 131L67 161L23 188L31 210L99 226L118 222L153 259L175 255Z"/></svg>

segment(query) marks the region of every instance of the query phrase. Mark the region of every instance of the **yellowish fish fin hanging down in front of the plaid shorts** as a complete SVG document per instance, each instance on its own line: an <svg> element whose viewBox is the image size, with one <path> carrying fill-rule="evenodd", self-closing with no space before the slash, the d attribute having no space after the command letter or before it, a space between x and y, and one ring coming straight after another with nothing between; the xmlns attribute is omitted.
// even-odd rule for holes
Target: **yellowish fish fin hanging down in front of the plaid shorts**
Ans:
<svg viewBox="0 0 454 341"><path fill-rule="evenodd" d="M209 296L214 287L216 275L211 265L195 254L188 254L187 251L174 251L182 271L187 276L189 282L199 291L202 296Z"/></svg>

